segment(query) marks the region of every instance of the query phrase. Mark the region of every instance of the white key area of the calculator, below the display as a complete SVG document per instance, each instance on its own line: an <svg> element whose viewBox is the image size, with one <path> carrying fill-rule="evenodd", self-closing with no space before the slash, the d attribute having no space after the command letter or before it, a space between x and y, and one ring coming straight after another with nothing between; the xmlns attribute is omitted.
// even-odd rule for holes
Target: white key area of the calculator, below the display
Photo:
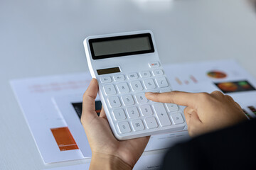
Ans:
<svg viewBox="0 0 256 170"><path fill-rule="evenodd" d="M156 103L145 96L145 92L171 91L159 66L159 62L151 62L149 70L100 77L107 105L121 134L184 123L176 104Z"/></svg>

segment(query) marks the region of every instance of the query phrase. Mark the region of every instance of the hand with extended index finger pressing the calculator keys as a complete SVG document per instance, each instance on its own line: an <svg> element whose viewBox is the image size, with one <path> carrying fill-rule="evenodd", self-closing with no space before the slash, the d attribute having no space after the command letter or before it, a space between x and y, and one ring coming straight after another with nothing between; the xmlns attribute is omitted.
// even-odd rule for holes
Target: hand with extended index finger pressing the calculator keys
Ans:
<svg viewBox="0 0 256 170"><path fill-rule="evenodd" d="M156 102L187 106L184 109L184 115L188 125L188 134L191 137L247 120L238 103L220 91L213 91L211 94L181 91L162 94L146 93L146 98Z"/></svg>

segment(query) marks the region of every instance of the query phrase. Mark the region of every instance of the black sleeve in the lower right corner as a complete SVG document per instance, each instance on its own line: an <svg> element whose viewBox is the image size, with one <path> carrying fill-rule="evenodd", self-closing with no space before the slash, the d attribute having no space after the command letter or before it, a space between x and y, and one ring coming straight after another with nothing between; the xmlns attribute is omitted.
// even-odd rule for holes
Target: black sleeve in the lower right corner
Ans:
<svg viewBox="0 0 256 170"><path fill-rule="evenodd" d="M171 147L162 169L256 169L256 120Z"/></svg>

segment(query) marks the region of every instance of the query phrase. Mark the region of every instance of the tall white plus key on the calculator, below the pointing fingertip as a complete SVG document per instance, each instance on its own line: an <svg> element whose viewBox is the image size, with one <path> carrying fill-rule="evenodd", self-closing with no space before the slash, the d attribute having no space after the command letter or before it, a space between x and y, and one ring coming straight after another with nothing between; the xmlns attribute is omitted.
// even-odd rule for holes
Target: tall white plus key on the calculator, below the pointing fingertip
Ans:
<svg viewBox="0 0 256 170"><path fill-rule="evenodd" d="M166 113L163 103L154 103L154 111L156 112L157 118L161 126L171 125L171 121Z"/></svg>

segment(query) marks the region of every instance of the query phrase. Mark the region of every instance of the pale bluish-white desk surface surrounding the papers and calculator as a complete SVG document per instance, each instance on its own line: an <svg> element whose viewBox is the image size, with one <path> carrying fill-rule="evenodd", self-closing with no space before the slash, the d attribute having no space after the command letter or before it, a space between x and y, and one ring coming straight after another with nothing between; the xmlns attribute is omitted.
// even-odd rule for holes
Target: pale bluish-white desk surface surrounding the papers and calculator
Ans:
<svg viewBox="0 0 256 170"><path fill-rule="evenodd" d="M1 0L0 169L45 169L9 79L87 72L87 35L149 29L163 63L235 58L256 77L256 13L245 0Z"/></svg>

